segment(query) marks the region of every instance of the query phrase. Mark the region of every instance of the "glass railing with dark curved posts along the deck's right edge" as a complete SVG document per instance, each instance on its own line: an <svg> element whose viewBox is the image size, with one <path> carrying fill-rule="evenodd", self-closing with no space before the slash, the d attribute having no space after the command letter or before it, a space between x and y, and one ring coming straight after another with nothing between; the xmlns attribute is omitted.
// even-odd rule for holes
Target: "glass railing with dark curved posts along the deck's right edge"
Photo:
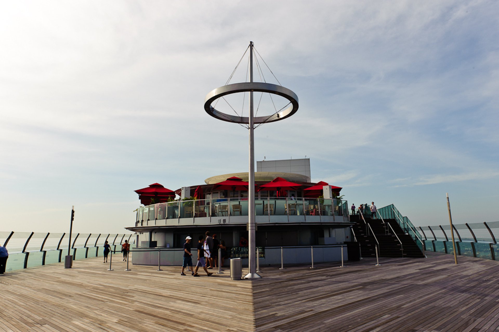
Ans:
<svg viewBox="0 0 499 332"><path fill-rule="evenodd" d="M456 253L461 256L499 260L499 221L484 223L466 223L453 225L421 226L425 250L454 254L452 233Z"/></svg>

